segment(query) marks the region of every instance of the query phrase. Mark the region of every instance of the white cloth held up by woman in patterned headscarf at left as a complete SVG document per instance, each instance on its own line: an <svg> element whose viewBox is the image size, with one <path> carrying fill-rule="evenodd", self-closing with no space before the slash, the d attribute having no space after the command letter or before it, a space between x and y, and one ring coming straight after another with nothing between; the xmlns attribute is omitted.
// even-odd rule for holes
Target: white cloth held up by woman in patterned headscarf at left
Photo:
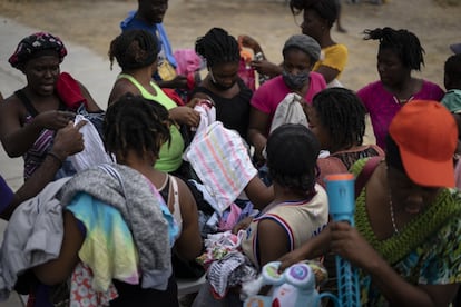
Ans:
<svg viewBox="0 0 461 307"><path fill-rule="evenodd" d="M87 123L80 128L80 133L84 135L85 149L69 157L77 172L88 169L92 166L110 164L112 161L110 159L110 156L107 155L98 130L96 130L91 121L81 115L77 115L75 125L82 120L87 121Z"/></svg>

